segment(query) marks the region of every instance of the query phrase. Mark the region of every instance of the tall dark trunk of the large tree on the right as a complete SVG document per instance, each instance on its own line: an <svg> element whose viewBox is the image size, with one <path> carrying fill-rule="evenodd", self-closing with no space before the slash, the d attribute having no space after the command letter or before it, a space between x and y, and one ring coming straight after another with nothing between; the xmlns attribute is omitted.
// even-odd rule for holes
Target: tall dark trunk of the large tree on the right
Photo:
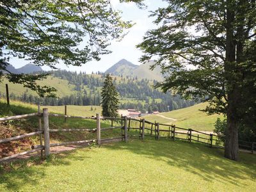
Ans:
<svg viewBox="0 0 256 192"><path fill-rule="evenodd" d="M225 142L225 157L232 160L238 159L238 119L237 101L239 91L236 83L236 40L234 38L234 1L227 0L227 38L225 76L227 79L227 137Z"/></svg>

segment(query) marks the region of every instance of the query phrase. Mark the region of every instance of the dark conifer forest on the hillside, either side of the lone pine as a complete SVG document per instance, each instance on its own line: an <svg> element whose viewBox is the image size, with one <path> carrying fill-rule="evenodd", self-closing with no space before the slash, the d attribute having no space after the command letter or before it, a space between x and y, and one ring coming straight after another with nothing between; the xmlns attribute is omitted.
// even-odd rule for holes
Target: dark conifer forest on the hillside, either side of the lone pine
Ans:
<svg viewBox="0 0 256 192"><path fill-rule="evenodd" d="M100 97L97 89L103 84L106 74L96 72L95 74L86 74L85 72L68 72L66 70L52 71L52 75L66 79L76 85L76 90L83 92L84 89L90 89L96 97ZM195 104L195 100L184 100L179 96L172 96L170 93L163 93L161 90L153 88L157 81L148 79L138 79L137 77L113 77L113 83L118 91L121 103L121 109L138 109L140 111L168 111L179 108L186 108ZM99 91L98 91L99 92ZM85 93L86 94L86 93ZM123 102L122 99L132 99L132 102ZM155 99L160 100L156 102ZM151 101L150 101L151 100ZM169 106L169 107L168 107Z"/></svg>

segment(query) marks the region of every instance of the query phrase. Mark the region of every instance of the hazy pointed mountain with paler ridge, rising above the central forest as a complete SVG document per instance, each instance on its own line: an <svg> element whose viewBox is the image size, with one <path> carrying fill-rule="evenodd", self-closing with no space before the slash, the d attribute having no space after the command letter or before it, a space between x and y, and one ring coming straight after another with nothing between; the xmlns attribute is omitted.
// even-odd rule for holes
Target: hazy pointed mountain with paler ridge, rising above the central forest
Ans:
<svg viewBox="0 0 256 192"><path fill-rule="evenodd" d="M149 61L141 65L134 65L130 61L122 59L112 67L108 68L105 74L112 74L113 76L138 77L140 79L162 81L163 75L161 74L161 68L159 66L154 68L154 70L150 70L150 66L154 64L154 61Z"/></svg>

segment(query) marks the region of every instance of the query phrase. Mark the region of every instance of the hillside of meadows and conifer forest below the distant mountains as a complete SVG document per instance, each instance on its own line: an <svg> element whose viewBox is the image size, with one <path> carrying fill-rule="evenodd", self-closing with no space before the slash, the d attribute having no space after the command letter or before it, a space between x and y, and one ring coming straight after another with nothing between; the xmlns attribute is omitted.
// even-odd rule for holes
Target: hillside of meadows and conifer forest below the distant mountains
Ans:
<svg viewBox="0 0 256 192"><path fill-rule="evenodd" d="M22 100L23 102L42 103L47 106L61 106L65 104L79 106L99 106L101 102L100 90L105 74L86 74L68 72L66 70L56 70L51 72L51 76L40 84L51 84L57 88L58 98L39 98L35 92L31 92L18 84L10 85L11 99ZM168 111L185 108L195 104L193 100L173 97L170 93L163 93L161 90L153 88L157 81L148 79L138 79L128 76L112 76L113 83L120 95L120 108L138 109L142 112L148 111ZM0 95L5 97L4 81L0 84Z"/></svg>

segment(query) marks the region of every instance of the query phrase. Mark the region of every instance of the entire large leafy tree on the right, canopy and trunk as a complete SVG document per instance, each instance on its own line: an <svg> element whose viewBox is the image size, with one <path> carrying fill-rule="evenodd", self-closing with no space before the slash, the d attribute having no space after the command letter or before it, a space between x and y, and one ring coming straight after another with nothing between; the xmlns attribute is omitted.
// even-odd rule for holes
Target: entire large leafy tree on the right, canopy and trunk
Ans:
<svg viewBox="0 0 256 192"><path fill-rule="evenodd" d="M159 28L138 45L141 61L156 59L159 84L184 97L206 97L209 113L227 115L225 156L237 159L237 126L255 100L255 0L168 0L152 12Z"/></svg>

